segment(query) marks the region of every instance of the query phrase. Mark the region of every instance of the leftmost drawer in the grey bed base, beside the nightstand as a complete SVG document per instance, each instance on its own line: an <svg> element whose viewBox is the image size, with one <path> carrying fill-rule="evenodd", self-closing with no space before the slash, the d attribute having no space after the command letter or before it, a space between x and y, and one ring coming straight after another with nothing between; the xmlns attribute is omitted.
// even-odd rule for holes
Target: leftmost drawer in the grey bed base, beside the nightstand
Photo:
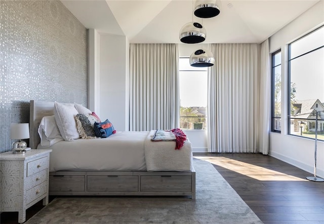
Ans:
<svg viewBox="0 0 324 224"><path fill-rule="evenodd" d="M84 192L85 191L85 176L70 176L70 175L50 175L49 191L55 192Z"/></svg>

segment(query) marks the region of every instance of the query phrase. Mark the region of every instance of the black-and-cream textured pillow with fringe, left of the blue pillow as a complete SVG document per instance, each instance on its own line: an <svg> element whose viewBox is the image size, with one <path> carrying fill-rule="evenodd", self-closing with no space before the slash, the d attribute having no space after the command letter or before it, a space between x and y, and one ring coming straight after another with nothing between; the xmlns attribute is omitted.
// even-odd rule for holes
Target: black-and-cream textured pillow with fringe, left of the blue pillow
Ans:
<svg viewBox="0 0 324 224"><path fill-rule="evenodd" d="M99 120L92 115L77 114L75 116L76 128L81 138L96 138L94 124Z"/></svg>

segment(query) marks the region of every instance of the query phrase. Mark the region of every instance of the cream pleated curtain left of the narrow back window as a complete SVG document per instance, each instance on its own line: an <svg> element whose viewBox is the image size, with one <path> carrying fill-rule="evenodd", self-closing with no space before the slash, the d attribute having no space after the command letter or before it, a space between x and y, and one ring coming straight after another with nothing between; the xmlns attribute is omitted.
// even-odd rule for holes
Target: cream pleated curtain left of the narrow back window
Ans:
<svg viewBox="0 0 324 224"><path fill-rule="evenodd" d="M178 48L130 45L130 131L179 127Z"/></svg>

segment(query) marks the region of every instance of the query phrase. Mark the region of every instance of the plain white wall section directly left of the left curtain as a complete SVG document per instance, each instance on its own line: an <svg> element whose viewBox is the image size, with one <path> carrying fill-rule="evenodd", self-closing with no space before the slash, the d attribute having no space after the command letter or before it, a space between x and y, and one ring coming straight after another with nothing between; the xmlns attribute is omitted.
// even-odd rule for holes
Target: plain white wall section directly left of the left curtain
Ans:
<svg viewBox="0 0 324 224"><path fill-rule="evenodd" d="M117 131L128 130L128 68L126 36L100 33L100 110Z"/></svg>

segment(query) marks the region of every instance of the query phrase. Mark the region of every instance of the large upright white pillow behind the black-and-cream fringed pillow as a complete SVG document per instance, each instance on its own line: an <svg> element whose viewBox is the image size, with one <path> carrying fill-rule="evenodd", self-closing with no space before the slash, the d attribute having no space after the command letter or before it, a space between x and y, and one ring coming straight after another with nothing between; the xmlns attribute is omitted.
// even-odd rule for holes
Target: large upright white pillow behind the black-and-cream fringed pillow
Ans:
<svg viewBox="0 0 324 224"><path fill-rule="evenodd" d="M57 127L64 140L73 141L80 138L77 133L74 116L77 115L77 110L73 103L54 103L54 116Z"/></svg>

